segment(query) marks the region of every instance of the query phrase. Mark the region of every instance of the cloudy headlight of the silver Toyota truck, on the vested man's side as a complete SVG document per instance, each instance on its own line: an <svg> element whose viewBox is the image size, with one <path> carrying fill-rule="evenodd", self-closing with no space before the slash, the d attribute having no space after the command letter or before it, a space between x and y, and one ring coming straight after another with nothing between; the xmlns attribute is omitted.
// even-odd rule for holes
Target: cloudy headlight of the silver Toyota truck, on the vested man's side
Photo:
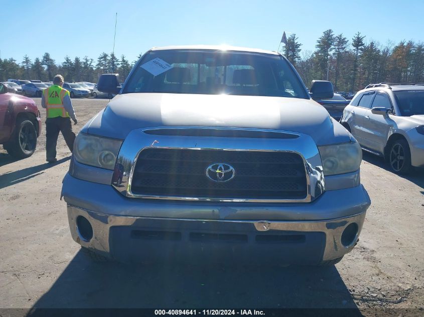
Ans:
<svg viewBox="0 0 424 317"><path fill-rule="evenodd" d="M113 170L122 141L78 133L74 157L77 162Z"/></svg>

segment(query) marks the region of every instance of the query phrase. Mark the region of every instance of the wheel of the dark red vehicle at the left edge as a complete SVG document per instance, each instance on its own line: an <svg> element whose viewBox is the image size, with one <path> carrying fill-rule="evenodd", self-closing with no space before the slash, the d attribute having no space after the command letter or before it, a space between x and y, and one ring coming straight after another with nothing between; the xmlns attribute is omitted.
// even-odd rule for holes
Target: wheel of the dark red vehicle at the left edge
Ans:
<svg viewBox="0 0 424 317"><path fill-rule="evenodd" d="M37 131L28 119L18 119L16 129L8 142L8 153L17 159L30 157L37 146Z"/></svg>

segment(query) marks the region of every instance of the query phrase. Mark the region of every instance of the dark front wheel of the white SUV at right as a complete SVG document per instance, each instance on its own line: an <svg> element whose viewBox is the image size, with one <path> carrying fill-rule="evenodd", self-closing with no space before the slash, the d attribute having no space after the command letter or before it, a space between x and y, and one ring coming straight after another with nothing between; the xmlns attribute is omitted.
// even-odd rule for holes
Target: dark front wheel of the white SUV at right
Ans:
<svg viewBox="0 0 424 317"><path fill-rule="evenodd" d="M396 140L390 144L387 161L396 174L408 173L411 169L411 153L408 142L403 139Z"/></svg>

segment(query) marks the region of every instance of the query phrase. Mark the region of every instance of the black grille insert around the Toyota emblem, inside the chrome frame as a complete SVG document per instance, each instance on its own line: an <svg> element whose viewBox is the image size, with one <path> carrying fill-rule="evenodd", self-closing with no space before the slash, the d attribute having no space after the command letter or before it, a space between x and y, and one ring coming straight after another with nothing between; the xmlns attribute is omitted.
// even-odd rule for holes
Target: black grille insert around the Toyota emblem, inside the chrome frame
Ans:
<svg viewBox="0 0 424 317"><path fill-rule="evenodd" d="M230 164L235 177L214 182L206 176L213 163ZM293 152L147 148L134 167L135 195L228 199L303 199L305 165Z"/></svg>

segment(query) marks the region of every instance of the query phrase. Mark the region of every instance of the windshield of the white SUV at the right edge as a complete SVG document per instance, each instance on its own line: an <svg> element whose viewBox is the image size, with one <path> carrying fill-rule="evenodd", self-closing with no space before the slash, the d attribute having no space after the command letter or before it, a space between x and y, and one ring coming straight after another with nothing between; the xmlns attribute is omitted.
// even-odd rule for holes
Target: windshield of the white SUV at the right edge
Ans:
<svg viewBox="0 0 424 317"><path fill-rule="evenodd" d="M402 117L424 115L424 90L394 91Z"/></svg>

